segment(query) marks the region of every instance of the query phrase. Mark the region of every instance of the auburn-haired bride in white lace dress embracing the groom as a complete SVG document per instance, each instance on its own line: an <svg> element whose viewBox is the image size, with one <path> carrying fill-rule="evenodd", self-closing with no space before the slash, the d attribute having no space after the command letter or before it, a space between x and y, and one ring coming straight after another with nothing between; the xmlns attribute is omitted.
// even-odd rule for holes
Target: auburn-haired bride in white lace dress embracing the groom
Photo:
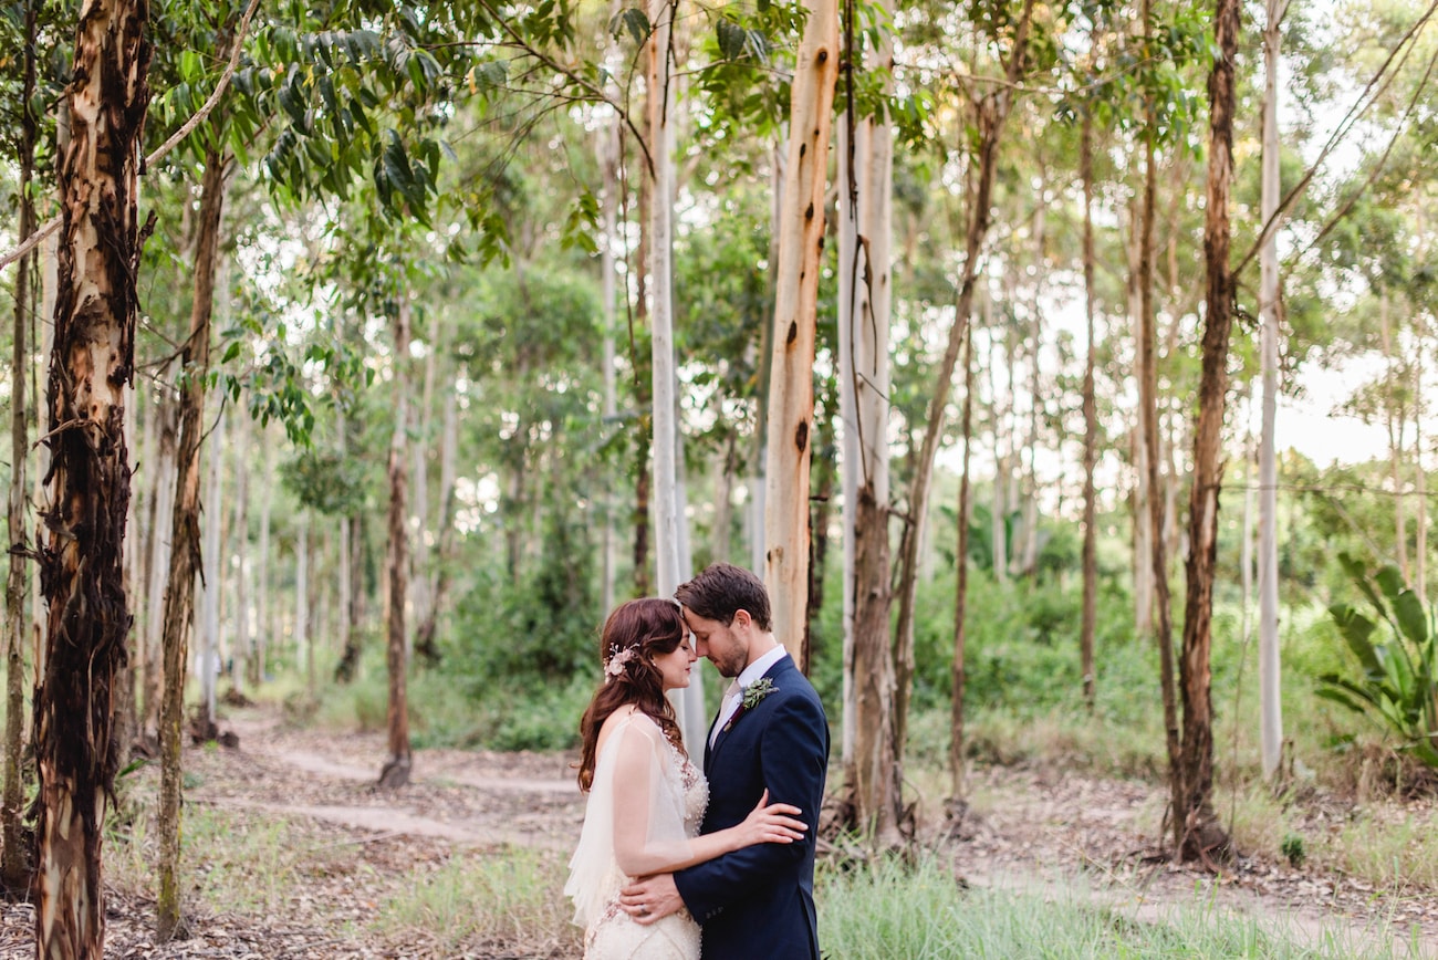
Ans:
<svg viewBox="0 0 1438 960"><path fill-rule="evenodd" d="M565 895L585 928L585 960L697 960L687 910L641 926L620 910L630 878L672 872L752 844L791 844L800 809L768 803L725 831L699 835L709 783L690 763L666 690L689 686L697 660L679 604L644 598L610 614L600 640L604 683L580 720L580 789L590 795Z"/></svg>

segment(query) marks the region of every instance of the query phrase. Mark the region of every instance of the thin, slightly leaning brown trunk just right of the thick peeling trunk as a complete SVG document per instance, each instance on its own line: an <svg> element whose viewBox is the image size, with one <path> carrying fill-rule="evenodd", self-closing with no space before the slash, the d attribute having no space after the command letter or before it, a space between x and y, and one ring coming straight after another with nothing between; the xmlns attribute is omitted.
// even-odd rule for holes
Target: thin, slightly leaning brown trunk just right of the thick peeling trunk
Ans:
<svg viewBox="0 0 1438 960"><path fill-rule="evenodd" d="M196 224L194 297L184 345L180 395L180 448L175 457L175 509L170 535L170 575L164 604L164 690L160 707L160 897L161 940L180 933L180 749L184 736L184 681L194 627L194 581L200 572L200 443L204 438L204 381L210 369L210 315L214 264L224 210L224 158L206 151ZM219 504L216 504L219 509ZM217 585L214 585L217 586ZM209 670L210 664L203 664Z"/></svg>

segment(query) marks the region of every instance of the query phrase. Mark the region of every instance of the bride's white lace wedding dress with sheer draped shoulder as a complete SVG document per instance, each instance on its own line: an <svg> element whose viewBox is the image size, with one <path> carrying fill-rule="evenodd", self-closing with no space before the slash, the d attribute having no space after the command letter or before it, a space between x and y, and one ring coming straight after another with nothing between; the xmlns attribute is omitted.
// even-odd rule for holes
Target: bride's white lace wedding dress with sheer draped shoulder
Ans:
<svg viewBox="0 0 1438 960"><path fill-rule="evenodd" d="M641 926L620 910L631 877L690 858L709 783L641 713L618 721L600 750L565 895L584 927L585 960L697 960L699 924L687 910ZM631 872L626 872L620 862Z"/></svg>

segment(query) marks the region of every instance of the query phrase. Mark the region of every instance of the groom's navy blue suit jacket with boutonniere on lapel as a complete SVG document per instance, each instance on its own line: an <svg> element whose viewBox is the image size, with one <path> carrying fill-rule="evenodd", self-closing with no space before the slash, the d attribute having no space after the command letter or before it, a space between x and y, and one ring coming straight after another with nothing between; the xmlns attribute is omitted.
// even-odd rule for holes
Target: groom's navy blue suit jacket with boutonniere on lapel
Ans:
<svg viewBox="0 0 1438 960"><path fill-rule="evenodd" d="M818 960L814 851L828 767L828 721L808 678L785 657L765 674L774 690L705 750L703 832L743 821L765 788L808 823L802 841L755 844L674 874L703 927L705 960Z"/></svg>

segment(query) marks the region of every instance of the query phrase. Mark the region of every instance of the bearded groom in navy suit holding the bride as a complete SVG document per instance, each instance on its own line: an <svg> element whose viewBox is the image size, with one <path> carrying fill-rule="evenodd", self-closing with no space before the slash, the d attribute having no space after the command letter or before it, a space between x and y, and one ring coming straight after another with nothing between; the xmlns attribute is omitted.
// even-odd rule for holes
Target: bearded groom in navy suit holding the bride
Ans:
<svg viewBox="0 0 1438 960"><path fill-rule="evenodd" d="M715 563L676 592L700 657L736 683L705 749L709 809L702 832L743 821L764 790L792 803L808 831L756 844L624 888L624 910L650 924L687 907L705 960L818 960L814 849L828 766L828 721L814 687L774 638L769 595L754 573Z"/></svg>

